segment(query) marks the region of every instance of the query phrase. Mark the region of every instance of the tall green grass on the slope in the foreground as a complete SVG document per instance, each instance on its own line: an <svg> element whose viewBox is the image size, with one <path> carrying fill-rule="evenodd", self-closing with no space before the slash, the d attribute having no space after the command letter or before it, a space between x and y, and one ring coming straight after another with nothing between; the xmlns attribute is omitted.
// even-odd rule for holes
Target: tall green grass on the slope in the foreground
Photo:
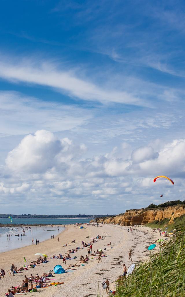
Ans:
<svg viewBox="0 0 185 297"><path fill-rule="evenodd" d="M177 228L177 227L176 227ZM178 232L160 252L151 252L128 278L117 282L117 297L185 296L185 229Z"/></svg>

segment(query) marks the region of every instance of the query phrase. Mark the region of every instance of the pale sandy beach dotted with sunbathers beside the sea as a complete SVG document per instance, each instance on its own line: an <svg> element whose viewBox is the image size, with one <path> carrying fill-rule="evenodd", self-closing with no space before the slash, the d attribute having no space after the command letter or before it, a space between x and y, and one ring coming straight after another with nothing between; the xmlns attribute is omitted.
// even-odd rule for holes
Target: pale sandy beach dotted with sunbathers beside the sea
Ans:
<svg viewBox="0 0 185 297"><path fill-rule="evenodd" d="M107 233L108 235L106 235ZM49 259L48 263L43 263L35 268L22 271L22 273L9 276L7 270L10 269L12 263L17 267L23 266L25 264L23 257L25 257L27 260L26 264L29 264L31 261L37 259L37 257L34 256L35 253L44 253L49 257L52 257L53 254L59 255L59 253L66 255L67 250L82 247L82 241L91 241L90 238L98 234L106 237L93 244L92 251L96 251L96 249L104 250L104 248L106 248L104 252L107 257L102 258L102 263L98 263L98 257L94 257L94 259L89 260L85 266L76 267L75 271L65 274L55 274L52 280L55 282L64 282L64 284L57 287L52 286L38 289L39 296L96 296L98 284L101 296L106 296L106 290L102 289L101 282L108 278L110 289L114 290L115 280L123 271L122 264L125 263L127 268L131 265L131 262L128 262L128 252L130 250L132 251L132 263L138 263L139 261L147 259L149 255L149 251L147 250L148 246L155 243L159 236L158 233L153 233L151 228L141 226L134 228L131 233L128 232L128 227L119 225L102 225L102 227L98 228L89 225L86 229L79 229L79 227L69 225L68 230L66 228L59 234L59 242L56 236L54 239L48 239L41 242L39 245L34 244L0 254L0 268L3 268L6 272L4 279L1 278L0 280L0 296L5 296L10 286L21 285L24 275L29 277L30 274L35 276L36 273L38 273L39 276L41 276L44 272L53 270L55 265L62 265L62 260ZM89 238L86 238L87 236L89 236ZM75 244L71 243L73 239L75 239ZM110 242L111 246L107 246ZM64 244L67 244L67 247L63 247ZM80 249L77 253L70 255L71 257L77 256L77 259L66 260L66 266L77 263L81 255L85 257L87 255L87 248ZM64 264L63 267L66 268L66 266ZM36 296L38 293L28 294Z"/></svg>

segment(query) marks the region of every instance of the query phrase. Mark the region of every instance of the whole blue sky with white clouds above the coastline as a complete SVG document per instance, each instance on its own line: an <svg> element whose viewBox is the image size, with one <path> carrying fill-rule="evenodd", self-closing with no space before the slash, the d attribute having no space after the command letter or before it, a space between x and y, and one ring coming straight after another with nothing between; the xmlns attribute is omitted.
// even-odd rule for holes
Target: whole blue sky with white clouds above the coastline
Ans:
<svg viewBox="0 0 185 297"><path fill-rule="evenodd" d="M1 212L116 214L184 199L184 11L2 1ZM175 186L154 184L159 174ZM25 211L30 200L39 207Z"/></svg>

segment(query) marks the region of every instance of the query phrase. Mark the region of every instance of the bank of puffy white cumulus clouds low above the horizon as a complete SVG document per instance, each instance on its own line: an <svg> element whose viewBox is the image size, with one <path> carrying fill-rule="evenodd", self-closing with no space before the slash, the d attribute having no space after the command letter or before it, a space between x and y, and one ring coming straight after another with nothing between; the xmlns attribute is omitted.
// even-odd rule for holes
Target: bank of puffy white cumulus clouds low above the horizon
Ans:
<svg viewBox="0 0 185 297"><path fill-rule="evenodd" d="M182 195L185 140L174 140L160 145L159 149L154 144L155 149L150 143L134 149L130 155L123 152L121 156L121 149L127 147L124 144L119 156L113 149L110 153L86 158L87 148L83 144L38 130L34 135L25 136L8 153L2 170L0 204L1 199L11 195L24 202L27 199L37 199L38 204L44 201L48 207L55 202L63 205L65 201L66 208L62 207L65 212L73 205L73 213L79 207L90 213L97 209L92 202L98 200L100 209L108 203L109 213L119 213L127 206L139 208L157 201L162 189L165 199L175 199L176 192ZM153 178L160 174L173 178L175 186L162 180L154 184ZM55 209L55 213L59 210Z"/></svg>

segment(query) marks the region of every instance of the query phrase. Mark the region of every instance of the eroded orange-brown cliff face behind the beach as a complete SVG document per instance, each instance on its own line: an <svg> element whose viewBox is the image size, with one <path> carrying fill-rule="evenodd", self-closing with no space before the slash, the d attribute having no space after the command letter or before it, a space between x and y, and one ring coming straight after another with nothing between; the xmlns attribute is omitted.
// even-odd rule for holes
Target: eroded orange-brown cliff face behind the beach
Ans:
<svg viewBox="0 0 185 297"><path fill-rule="evenodd" d="M123 215L118 215L112 218L96 219L96 222L130 226L145 225L156 220L162 221L163 219L170 219L169 223L173 223L175 218L181 217L182 215L185 215L185 205L176 205L158 209L128 210Z"/></svg>

